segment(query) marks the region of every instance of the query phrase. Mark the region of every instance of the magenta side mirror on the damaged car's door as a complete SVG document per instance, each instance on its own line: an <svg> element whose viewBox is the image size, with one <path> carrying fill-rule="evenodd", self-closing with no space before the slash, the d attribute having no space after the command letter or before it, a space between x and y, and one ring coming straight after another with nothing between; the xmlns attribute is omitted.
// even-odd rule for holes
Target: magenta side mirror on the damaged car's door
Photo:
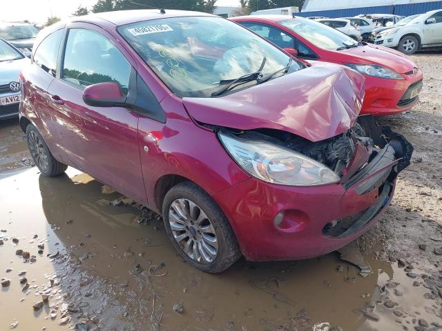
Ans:
<svg viewBox="0 0 442 331"><path fill-rule="evenodd" d="M83 91L84 103L94 107L124 106L126 99L119 85L113 82L97 83Z"/></svg>

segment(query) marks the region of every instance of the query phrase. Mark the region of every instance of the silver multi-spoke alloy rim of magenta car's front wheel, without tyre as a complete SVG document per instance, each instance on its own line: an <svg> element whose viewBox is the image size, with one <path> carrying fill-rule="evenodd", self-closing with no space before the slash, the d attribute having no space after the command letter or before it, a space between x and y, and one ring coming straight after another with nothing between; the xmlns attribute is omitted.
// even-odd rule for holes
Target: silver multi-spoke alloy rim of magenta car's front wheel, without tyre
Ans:
<svg viewBox="0 0 442 331"><path fill-rule="evenodd" d="M206 213L189 199L175 199L169 208L173 238L193 261L209 264L218 255L218 238Z"/></svg>

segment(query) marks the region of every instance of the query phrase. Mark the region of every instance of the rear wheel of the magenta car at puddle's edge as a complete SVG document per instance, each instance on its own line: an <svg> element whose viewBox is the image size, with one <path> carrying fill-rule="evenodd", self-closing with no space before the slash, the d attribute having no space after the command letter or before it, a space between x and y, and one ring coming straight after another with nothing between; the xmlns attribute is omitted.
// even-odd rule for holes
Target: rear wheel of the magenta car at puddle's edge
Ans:
<svg viewBox="0 0 442 331"><path fill-rule="evenodd" d="M47 177L55 177L66 171L68 166L52 156L43 136L32 124L28 124L26 127L26 140L30 155L42 174Z"/></svg>

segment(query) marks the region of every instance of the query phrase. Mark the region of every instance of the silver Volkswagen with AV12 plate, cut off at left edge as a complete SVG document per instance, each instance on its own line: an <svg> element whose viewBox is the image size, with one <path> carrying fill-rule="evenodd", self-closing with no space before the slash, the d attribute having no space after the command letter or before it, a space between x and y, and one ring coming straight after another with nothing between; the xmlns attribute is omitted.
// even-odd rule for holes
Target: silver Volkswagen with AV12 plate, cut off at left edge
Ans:
<svg viewBox="0 0 442 331"><path fill-rule="evenodd" d="M30 59L0 38L0 120L19 116L19 74Z"/></svg>

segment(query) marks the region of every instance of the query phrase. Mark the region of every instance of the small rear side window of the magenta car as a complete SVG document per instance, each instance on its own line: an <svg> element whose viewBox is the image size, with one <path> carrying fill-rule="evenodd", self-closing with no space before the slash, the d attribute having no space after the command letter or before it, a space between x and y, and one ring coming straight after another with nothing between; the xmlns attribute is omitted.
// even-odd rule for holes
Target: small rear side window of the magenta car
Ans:
<svg viewBox="0 0 442 331"><path fill-rule="evenodd" d="M48 37L41 41L34 53L34 63L54 77L57 70L58 51L62 36L63 29L52 32L52 34L49 34Z"/></svg>

